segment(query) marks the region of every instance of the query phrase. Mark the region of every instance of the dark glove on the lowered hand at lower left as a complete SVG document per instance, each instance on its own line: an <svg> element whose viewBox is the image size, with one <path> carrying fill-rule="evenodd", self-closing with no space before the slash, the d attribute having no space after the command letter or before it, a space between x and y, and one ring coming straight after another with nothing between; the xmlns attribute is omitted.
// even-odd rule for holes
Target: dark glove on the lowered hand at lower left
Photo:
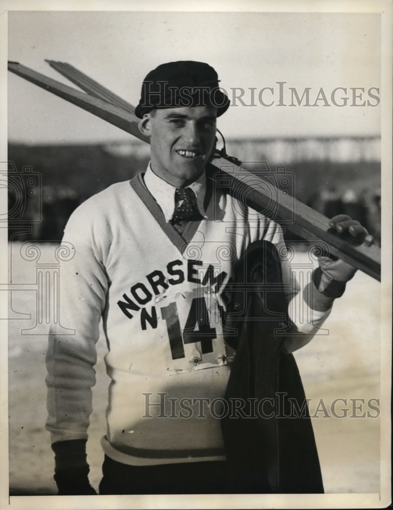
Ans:
<svg viewBox="0 0 393 510"><path fill-rule="evenodd" d="M90 496L97 493L89 483L86 461L86 440L72 439L53 443L55 452L55 481L59 496Z"/></svg>

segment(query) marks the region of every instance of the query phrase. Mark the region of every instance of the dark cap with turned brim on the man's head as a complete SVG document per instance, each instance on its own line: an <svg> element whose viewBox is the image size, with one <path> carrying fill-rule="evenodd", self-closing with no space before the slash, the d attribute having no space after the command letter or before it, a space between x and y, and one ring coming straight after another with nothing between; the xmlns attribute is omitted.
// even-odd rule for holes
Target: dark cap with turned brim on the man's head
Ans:
<svg viewBox="0 0 393 510"><path fill-rule="evenodd" d="M228 109L229 99L218 82L217 72L204 62L161 64L144 79L135 115L141 119L153 109L215 106L219 117Z"/></svg>

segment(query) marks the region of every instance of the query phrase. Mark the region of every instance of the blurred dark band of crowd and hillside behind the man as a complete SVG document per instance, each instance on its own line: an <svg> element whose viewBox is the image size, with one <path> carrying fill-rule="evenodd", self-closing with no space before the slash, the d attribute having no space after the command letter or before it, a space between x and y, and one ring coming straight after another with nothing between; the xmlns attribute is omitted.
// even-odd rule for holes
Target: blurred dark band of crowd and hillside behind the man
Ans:
<svg viewBox="0 0 393 510"><path fill-rule="evenodd" d="M345 143L344 143L345 142ZM86 198L146 169L146 144L27 146L10 144L9 239L60 241L72 211ZM266 161L274 173L284 165L293 175L292 194L332 217L348 214L381 243L379 140L233 140L229 154L244 161ZM26 170L28 168L28 170ZM282 168L282 167L281 167ZM30 173L29 173L30 172ZM30 180L32 176L38 179ZM10 175L10 172L9 172ZM28 184L32 185L29 186ZM278 183L279 185L279 183ZM287 240L294 240L287 236Z"/></svg>

